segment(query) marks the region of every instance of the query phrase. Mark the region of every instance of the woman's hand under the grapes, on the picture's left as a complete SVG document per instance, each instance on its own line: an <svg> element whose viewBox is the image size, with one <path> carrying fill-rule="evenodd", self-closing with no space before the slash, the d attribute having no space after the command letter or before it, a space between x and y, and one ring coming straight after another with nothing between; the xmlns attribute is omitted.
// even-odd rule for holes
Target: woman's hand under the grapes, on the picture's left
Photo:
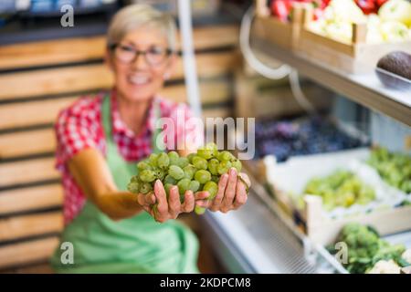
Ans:
<svg viewBox="0 0 411 292"><path fill-rule="evenodd" d="M193 193L192 191L186 191L184 193L184 203L181 203L178 187L174 185L171 187L167 199L163 183L157 180L154 183L154 192L146 195L140 193L137 200L142 208L153 216L155 221L163 223L177 218L181 213L193 212L195 201L205 200L208 195L208 192Z"/></svg>

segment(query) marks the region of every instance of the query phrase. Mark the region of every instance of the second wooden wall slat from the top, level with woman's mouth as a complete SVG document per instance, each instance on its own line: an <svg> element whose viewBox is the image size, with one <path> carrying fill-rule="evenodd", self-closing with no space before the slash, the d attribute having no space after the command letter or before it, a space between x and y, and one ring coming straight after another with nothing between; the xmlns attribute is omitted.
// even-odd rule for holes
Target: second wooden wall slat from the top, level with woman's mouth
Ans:
<svg viewBox="0 0 411 292"><path fill-rule="evenodd" d="M229 74L237 61L238 55L232 52L200 55L196 57L198 75L201 78L213 78ZM174 78L184 78L184 68L180 58ZM104 64L97 64L0 75L0 84L2 85L0 100L13 100L109 89L113 84L113 77L109 68Z"/></svg>

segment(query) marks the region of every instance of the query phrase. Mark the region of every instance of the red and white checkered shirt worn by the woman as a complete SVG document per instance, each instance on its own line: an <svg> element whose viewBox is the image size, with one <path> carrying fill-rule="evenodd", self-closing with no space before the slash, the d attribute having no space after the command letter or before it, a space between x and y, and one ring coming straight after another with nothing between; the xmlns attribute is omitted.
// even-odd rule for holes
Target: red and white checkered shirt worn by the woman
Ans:
<svg viewBox="0 0 411 292"><path fill-rule="evenodd" d="M109 93L111 93L113 141L117 144L121 156L127 162L136 162L149 156L152 152L152 135L155 120L153 102L149 107L145 126L138 135L135 135L121 120L120 112L117 109L115 90ZM56 168L62 174L65 224L71 222L79 214L86 199L79 185L68 171L68 160L86 148L98 149L103 155L106 152L106 141L100 119L101 103L106 94L108 92L101 92L94 97L82 97L67 109L61 110L58 114L58 120L55 125L58 141ZM161 97L155 97L153 100L159 102L160 116L173 119L177 125L177 116L184 117L184 121L194 117L193 112L184 103L175 103ZM189 123L180 123L180 126L176 127L174 134L174 141L185 139L185 137L193 139L195 136L195 139L198 139L198 135L202 135L201 131L190 126ZM201 139L196 141L201 141ZM164 138L164 141L168 150L174 149L174 145L167 143L166 138ZM193 144L195 141L190 142Z"/></svg>

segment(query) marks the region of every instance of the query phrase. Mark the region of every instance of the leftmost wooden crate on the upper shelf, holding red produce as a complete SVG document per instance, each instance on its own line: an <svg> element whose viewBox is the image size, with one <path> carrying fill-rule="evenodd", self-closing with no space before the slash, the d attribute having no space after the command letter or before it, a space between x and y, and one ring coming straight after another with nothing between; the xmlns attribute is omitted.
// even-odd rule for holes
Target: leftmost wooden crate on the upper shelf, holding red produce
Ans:
<svg viewBox="0 0 411 292"><path fill-rule="evenodd" d="M301 16L303 5L293 4L292 22L280 21L278 17L271 16L267 0L256 0L256 20L254 33L271 43L292 49L297 46L300 36Z"/></svg>

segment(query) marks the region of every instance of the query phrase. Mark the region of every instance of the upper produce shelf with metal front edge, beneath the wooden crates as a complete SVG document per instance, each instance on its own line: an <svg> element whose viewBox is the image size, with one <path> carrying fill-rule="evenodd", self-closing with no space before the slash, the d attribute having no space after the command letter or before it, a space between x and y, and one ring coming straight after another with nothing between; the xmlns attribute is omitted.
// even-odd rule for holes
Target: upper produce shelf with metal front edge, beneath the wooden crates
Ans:
<svg viewBox="0 0 411 292"><path fill-rule="evenodd" d="M374 68L369 68L367 73L349 74L302 52L276 46L257 32L253 33L253 30L250 42L254 54L264 63L275 67L278 61L286 63L306 78L411 126L411 82L405 78L395 78L395 88L388 88L378 78ZM389 72L378 70L378 74L393 79Z"/></svg>

